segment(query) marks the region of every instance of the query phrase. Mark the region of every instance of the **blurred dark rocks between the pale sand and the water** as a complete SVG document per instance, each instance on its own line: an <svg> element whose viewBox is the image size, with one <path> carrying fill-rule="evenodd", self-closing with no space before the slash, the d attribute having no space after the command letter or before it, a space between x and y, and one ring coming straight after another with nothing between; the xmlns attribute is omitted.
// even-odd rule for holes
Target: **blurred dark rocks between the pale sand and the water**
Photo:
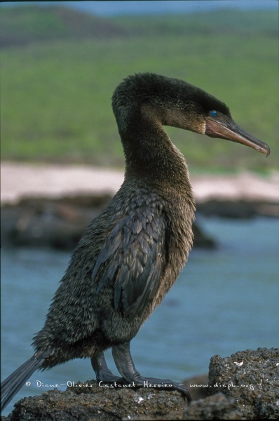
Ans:
<svg viewBox="0 0 279 421"><path fill-rule="evenodd" d="M110 194L25 198L1 207L1 243L8 247L48 247L72 250L90 221L111 200ZM279 203L211 200L197 203L197 213L222 218L276 217ZM195 222L194 246L215 247L215 239Z"/></svg>

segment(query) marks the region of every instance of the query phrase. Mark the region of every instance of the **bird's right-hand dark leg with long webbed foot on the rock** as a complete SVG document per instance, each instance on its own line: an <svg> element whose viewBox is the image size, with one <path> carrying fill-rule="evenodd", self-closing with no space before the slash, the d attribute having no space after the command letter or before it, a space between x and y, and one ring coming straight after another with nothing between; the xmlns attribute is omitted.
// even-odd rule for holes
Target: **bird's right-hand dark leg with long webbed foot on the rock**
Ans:
<svg viewBox="0 0 279 421"><path fill-rule="evenodd" d="M123 379L119 379L119 382L123 381L123 384L133 384L137 387L154 387L156 389L168 389L177 390L186 396L187 401L191 402L191 396L189 390L184 385L172 382L172 380L156 379L154 377L142 377L136 370L135 365L132 361L130 354L130 342L124 342L121 345L114 345L112 347L112 355L114 362L119 373L123 376Z"/></svg>

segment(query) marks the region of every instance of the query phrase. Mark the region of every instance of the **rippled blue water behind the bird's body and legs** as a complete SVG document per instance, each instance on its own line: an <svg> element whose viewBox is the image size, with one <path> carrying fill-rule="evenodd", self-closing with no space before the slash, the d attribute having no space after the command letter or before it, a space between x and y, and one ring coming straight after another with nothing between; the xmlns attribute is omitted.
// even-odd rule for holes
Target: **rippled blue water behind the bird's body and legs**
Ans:
<svg viewBox="0 0 279 421"><path fill-rule="evenodd" d="M279 220L199 221L218 248L191 252L175 286L132 341L142 375L180 381L207 373L212 355L279 346ZM68 261L69 253L59 251L2 250L2 379L32 355L32 337ZM107 362L117 374L109 351ZM18 399L46 392L46 385L92 378L89 359L36 372L4 413Z"/></svg>

